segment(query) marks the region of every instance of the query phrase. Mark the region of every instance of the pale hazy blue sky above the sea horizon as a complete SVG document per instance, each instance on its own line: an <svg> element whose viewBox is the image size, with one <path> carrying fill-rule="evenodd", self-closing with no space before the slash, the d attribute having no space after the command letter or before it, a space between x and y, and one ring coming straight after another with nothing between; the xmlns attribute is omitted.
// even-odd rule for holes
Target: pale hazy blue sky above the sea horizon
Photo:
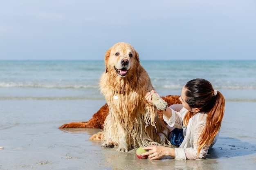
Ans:
<svg viewBox="0 0 256 170"><path fill-rule="evenodd" d="M255 0L0 0L0 60L256 60Z"/></svg>

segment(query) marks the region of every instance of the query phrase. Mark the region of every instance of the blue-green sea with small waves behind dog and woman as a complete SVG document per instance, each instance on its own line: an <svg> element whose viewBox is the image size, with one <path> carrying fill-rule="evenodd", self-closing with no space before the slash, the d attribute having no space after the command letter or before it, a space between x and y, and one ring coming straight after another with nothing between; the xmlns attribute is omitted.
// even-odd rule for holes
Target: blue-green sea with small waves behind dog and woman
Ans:
<svg viewBox="0 0 256 170"><path fill-rule="evenodd" d="M204 78L230 101L256 102L256 61L141 61L160 95ZM0 61L1 100L104 99L104 61Z"/></svg>

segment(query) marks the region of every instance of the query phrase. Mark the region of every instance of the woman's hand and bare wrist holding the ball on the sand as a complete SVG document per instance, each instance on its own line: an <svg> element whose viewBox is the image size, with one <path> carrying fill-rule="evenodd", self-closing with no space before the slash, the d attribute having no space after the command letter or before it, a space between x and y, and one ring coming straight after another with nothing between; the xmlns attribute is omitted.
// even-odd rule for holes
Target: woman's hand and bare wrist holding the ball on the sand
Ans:
<svg viewBox="0 0 256 170"><path fill-rule="evenodd" d="M149 150L146 153L143 153L142 156L148 155L148 159L161 159L165 156L175 157L175 149L168 148L164 146L146 146L143 148L144 150Z"/></svg>

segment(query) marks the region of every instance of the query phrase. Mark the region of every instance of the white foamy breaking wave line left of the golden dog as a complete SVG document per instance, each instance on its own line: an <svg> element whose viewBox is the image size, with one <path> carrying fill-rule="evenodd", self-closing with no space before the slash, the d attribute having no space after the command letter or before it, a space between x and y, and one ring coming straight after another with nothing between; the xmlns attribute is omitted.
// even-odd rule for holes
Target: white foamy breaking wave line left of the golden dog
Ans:
<svg viewBox="0 0 256 170"><path fill-rule="evenodd" d="M0 83L0 88L99 88L98 85L82 84L36 84L36 83Z"/></svg>

